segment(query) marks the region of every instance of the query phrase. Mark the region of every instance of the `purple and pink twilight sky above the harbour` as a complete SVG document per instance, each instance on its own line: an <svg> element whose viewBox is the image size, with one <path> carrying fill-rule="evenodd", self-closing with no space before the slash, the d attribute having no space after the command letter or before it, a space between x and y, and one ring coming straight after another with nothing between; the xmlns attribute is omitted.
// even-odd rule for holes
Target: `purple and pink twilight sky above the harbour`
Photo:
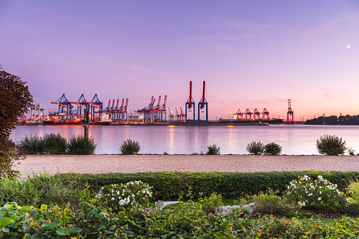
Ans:
<svg viewBox="0 0 359 239"><path fill-rule="evenodd" d="M205 80L209 120L358 115L359 1L0 0L0 65L46 113L62 94L184 110Z"/></svg>

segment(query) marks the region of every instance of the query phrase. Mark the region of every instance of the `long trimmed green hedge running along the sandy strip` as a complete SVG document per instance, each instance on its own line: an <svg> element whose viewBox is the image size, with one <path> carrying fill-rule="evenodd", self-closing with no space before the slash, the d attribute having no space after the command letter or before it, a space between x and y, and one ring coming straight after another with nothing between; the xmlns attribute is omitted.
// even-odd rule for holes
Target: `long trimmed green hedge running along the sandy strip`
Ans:
<svg viewBox="0 0 359 239"><path fill-rule="evenodd" d="M266 192L268 188L284 193L291 180L298 176L308 175L310 178L323 176L331 183L338 185L341 192L346 192L350 184L349 178L359 178L358 171L284 171L284 172L146 172L146 173L59 173L56 177L62 180L86 182L91 186L92 193L99 192L104 185L127 183L141 180L153 187L153 200L178 200L209 197L212 192L224 198L238 198L243 195L255 195ZM188 195L190 192L190 196Z"/></svg>

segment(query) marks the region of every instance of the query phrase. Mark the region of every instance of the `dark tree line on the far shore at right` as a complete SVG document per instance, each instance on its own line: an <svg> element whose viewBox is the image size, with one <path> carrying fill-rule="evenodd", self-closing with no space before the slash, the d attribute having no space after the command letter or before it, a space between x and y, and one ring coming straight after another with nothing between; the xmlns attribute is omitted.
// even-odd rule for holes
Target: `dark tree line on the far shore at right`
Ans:
<svg viewBox="0 0 359 239"><path fill-rule="evenodd" d="M320 116L305 121L305 125L359 125L358 116Z"/></svg>

